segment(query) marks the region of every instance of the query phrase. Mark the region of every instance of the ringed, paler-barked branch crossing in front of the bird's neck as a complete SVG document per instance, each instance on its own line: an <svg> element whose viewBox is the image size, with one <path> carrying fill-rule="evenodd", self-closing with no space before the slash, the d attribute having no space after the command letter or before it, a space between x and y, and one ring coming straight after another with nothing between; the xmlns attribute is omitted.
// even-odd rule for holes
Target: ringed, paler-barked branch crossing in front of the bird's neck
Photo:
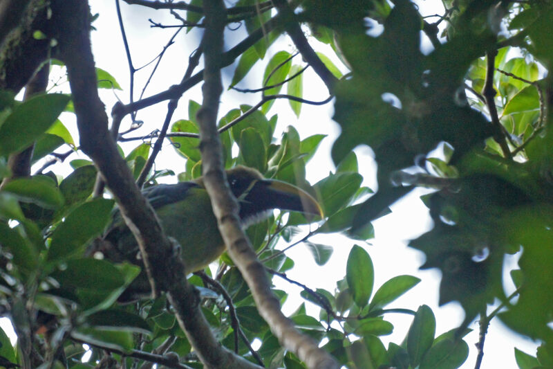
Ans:
<svg viewBox="0 0 553 369"><path fill-rule="evenodd" d="M256 257L250 241L241 228L238 204L227 186L223 171L221 139L217 131L217 113L223 87L221 64L223 51L223 19L225 10L222 0L204 1L206 29L202 40L205 69L203 104L198 110L200 125L200 150L204 183L223 236L227 252L236 263L252 291L259 314L267 321L271 331L281 344L304 361L312 369L337 369L338 363L317 342L301 334L282 312L279 299L272 294L270 280L263 264Z"/></svg>

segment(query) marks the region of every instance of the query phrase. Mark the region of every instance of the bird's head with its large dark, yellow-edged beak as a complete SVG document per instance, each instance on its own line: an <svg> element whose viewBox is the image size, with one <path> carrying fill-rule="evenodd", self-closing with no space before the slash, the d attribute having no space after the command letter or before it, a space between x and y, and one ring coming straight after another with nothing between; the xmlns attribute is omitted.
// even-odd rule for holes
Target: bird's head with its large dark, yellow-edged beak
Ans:
<svg viewBox="0 0 553 369"><path fill-rule="evenodd" d="M308 219L323 217L321 206L308 192L290 183L265 179L255 169L238 165L227 170L227 181L238 199L245 226L267 217L272 209L299 211Z"/></svg>

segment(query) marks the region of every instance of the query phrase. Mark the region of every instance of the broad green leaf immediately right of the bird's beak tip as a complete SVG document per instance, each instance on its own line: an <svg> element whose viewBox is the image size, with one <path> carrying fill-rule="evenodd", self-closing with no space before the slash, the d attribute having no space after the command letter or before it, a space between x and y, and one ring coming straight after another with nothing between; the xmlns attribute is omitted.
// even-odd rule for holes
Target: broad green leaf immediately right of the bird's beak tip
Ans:
<svg viewBox="0 0 553 369"><path fill-rule="evenodd" d="M348 205L350 199L359 190L363 177L359 173L330 174L321 179L313 188L321 200L326 215L332 215Z"/></svg>

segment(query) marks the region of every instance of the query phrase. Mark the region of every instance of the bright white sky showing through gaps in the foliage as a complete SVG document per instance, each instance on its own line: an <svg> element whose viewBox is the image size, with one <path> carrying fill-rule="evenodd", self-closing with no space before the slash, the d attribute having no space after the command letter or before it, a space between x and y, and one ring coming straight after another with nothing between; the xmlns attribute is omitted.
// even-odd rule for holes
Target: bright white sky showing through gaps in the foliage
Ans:
<svg viewBox="0 0 553 369"><path fill-rule="evenodd" d="M441 12L441 2L436 0L416 1L420 3L423 15L433 15ZM115 12L115 2L106 0L92 0L92 13L99 12L100 17L95 21L94 26L97 28L92 33L93 51L97 66L109 71L115 76L119 84L123 87L124 92L117 91L118 97L123 102L129 102L128 87L129 87L129 69L126 62L122 38L118 28L118 20ZM140 6L126 6L122 2L122 12L124 24L126 27L127 37L133 56L135 67L142 66L153 59L161 50L162 46L167 42L174 32L173 28L162 30L160 28L150 28L148 19L151 18L156 22L163 24L176 24L174 18L167 11L154 11ZM200 37L200 33L191 33ZM242 34L243 35L243 34ZM227 37L227 44L233 45L238 36L230 39ZM191 41L194 40L194 42ZM198 38L199 39L199 38ZM153 93L167 89L171 84L176 84L182 78L184 73L189 53L192 48L197 46L198 39L194 36L181 33L176 38L176 44L171 46L162 60L158 73L154 76L151 85L148 87L144 96L151 96ZM161 40L161 41L160 41ZM292 42L286 38L280 47L270 48L265 61L269 60L273 53L276 53L282 48L288 51L293 51ZM427 48L427 44L423 43L423 48ZM321 50L324 47L319 44ZM331 53L327 53L328 56ZM297 63L301 60L296 60ZM335 60L337 62L337 60ZM338 63L338 62L337 62ZM263 73L264 63L258 63L254 67L254 73ZM138 96L140 89L144 85L144 80L148 78L151 69L140 71L135 75L135 96ZM232 78L231 69L225 70L223 83L228 86L230 78ZM223 72L225 72L223 71ZM259 75L259 74L258 74ZM304 79L304 97L310 100L324 100L327 98L328 91L324 84L308 69ZM241 82L241 87L256 88L259 87L259 79L250 78ZM112 91L104 90L101 95L102 100L106 104L106 111L111 111L111 107L115 103L115 98ZM188 91L184 98L180 100L180 105L174 115L174 120L187 118L187 100L192 98L197 102L201 102L200 85ZM238 104L248 103L254 105L259 100L259 95L244 96L243 93L225 91L221 105L221 115L225 114L229 109L238 107ZM144 120L144 128L140 133L147 134L153 129L161 126L167 103L161 103L155 107L144 109L138 113L138 119ZM302 107L301 116L296 118L288 102L275 102L270 115L279 114L279 130L285 129L287 125L294 125L299 131L301 138L305 138L312 134L328 134L317 155L308 163L308 179L315 183L317 180L326 177L330 170L334 170L330 159L330 148L332 141L337 137L339 126L332 121L332 104L324 107L312 107L304 105ZM75 123L71 119L63 119L71 132L75 132ZM73 127L71 127L73 125ZM129 119L123 120L122 129L129 127ZM75 134L75 137L77 134ZM135 136L135 135L133 135ZM133 143L132 145L137 145ZM132 147L132 146L128 146ZM130 150L130 148L129 148ZM359 169L364 175L365 186L375 188L375 163L372 152L368 147L358 147L355 152L359 159ZM73 158L73 156L72 156ZM73 158L76 159L76 158ZM165 144L164 150L160 153L157 160L157 168L171 168L176 173L181 172L179 168L185 164L181 156L175 153L172 147ZM169 178L167 181L176 181L176 178ZM420 192L422 193L422 192ZM418 194L420 195L420 194ZM437 334L447 332L457 327L462 321L462 309L456 303L450 303L444 307L438 307L438 285L440 275L438 271L419 271L418 267L424 261L424 255L414 249L406 246L406 241L410 238L417 237L431 227L431 219L428 215L427 208L422 204L418 195L411 195L399 201L393 207L393 213L378 219L374 222L376 237L370 240L370 244L362 244L370 253L375 266L375 289L382 285L386 280L393 276L402 274L410 274L418 276L422 282L409 291L402 298L398 299L390 307L404 307L417 309L422 304L429 305L437 321ZM301 237L301 236L300 236ZM287 254L296 261L296 267L288 272L288 276L292 279L299 280L305 283L312 289L324 288L334 289L337 280L344 278L346 273L346 260L351 246L354 244L352 240L340 235L318 235L312 237L312 242L321 244L329 244L334 246L334 253L330 261L323 267L317 266L312 259L306 247L299 245L290 250ZM506 265L510 267L516 266L516 260L506 260ZM274 281L278 288L290 291L290 298L283 307L286 313L293 312L299 303L300 289L289 285L287 282L275 278ZM297 296L297 297L296 297ZM318 308L310 305L311 312L318 311ZM491 311L491 310L490 310ZM384 337L384 342L401 343L409 325L411 325L412 317L400 314L388 314L385 319L393 323L395 330L391 336ZM6 326L6 321L0 322L3 327ZM474 332L466 337L467 343L471 348L469 358L461 367L463 369L474 368L476 361L476 350L474 344L478 341L478 324L473 323L470 326ZM6 328L7 329L7 328ZM514 347L535 354L536 344L521 336L517 336L509 332L497 319L491 322L491 327L487 335L485 344L485 355L482 363L482 368L505 368L516 369L514 361Z"/></svg>

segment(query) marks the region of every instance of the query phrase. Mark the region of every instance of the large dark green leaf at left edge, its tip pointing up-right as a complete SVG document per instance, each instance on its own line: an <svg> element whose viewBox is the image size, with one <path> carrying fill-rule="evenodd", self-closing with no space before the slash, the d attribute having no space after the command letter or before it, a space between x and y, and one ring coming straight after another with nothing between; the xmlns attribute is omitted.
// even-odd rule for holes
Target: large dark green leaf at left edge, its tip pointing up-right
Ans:
<svg viewBox="0 0 553 369"><path fill-rule="evenodd" d="M46 132L64 111L69 97L37 95L17 105L0 125L0 156L24 149Z"/></svg>

